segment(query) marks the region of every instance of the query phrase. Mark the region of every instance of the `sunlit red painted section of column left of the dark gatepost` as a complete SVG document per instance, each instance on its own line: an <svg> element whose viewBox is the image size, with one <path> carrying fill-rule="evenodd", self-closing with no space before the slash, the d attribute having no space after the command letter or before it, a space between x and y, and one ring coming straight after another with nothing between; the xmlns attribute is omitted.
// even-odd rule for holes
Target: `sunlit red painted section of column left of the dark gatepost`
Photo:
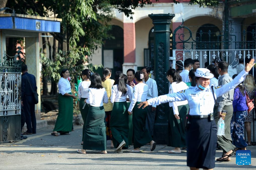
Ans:
<svg viewBox="0 0 256 170"><path fill-rule="evenodd" d="M134 23L124 23L124 63L135 63Z"/></svg>

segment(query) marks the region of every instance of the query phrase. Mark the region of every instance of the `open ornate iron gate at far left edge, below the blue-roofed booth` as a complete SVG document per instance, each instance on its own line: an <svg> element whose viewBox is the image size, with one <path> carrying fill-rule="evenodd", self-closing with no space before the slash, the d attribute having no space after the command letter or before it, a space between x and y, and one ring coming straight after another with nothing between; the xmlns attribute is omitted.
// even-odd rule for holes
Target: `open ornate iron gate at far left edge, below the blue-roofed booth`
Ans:
<svg viewBox="0 0 256 170"><path fill-rule="evenodd" d="M0 142L20 139L21 60L5 54L0 64ZM20 57L19 57L20 58Z"/></svg>

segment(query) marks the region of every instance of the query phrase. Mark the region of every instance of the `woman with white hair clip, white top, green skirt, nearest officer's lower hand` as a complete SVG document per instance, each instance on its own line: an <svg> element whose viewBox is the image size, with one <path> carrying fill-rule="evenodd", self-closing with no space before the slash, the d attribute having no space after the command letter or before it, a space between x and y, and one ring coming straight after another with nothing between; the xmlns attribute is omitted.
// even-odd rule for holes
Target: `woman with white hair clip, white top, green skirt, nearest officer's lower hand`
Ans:
<svg viewBox="0 0 256 170"><path fill-rule="evenodd" d="M138 83L133 87L132 101L128 109L129 115L133 112L132 123L134 132L133 150L129 152L140 152L140 147L150 142L150 150L156 148L149 131L146 129L147 109L138 109L137 104L146 101L148 86L143 83L144 74L142 71L135 73L135 81Z"/></svg>

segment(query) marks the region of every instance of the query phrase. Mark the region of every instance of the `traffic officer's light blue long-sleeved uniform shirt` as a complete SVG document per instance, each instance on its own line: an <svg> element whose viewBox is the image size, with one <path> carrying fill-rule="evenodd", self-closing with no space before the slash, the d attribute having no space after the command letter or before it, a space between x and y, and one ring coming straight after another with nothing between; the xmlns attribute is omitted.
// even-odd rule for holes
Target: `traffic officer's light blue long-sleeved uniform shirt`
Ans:
<svg viewBox="0 0 256 170"><path fill-rule="evenodd" d="M244 81L248 72L241 71L233 81L223 86L215 86L213 93L215 98L227 93L229 90L234 89L237 85ZM147 100L149 105L159 105L172 101L188 100L189 115L208 115L213 113L214 97L211 87L208 86L205 90L200 90L197 86L182 90L178 93L166 94Z"/></svg>

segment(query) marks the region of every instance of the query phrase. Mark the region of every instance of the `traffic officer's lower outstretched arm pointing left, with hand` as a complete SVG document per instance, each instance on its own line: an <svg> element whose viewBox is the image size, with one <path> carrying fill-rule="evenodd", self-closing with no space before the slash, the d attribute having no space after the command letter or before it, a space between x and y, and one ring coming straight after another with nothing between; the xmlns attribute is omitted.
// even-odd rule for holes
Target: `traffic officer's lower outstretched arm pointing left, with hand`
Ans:
<svg viewBox="0 0 256 170"><path fill-rule="evenodd" d="M172 94L166 94L158 97L154 97L152 99L149 99L147 101L141 102L138 104L138 108L144 109L148 105L159 105L162 103L172 102L172 101L184 101L187 100L186 96L186 90L182 90L178 93L172 93Z"/></svg>

